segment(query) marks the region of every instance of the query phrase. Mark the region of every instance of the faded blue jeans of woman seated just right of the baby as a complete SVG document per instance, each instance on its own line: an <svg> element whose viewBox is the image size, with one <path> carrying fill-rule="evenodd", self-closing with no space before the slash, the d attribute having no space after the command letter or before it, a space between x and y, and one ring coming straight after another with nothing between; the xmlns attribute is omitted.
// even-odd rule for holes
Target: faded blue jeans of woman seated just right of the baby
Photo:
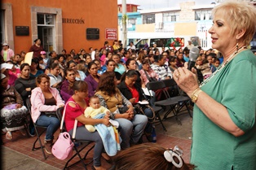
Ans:
<svg viewBox="0 0 256 170"><path fill-rule="evenodd" d="M143 115L135 115L132 120L126 120L123 118L115 120L119 123L122 149L130 147L130 142L139 142L139 138L143 135L143 131L148 123L147 116Z"/></svg>

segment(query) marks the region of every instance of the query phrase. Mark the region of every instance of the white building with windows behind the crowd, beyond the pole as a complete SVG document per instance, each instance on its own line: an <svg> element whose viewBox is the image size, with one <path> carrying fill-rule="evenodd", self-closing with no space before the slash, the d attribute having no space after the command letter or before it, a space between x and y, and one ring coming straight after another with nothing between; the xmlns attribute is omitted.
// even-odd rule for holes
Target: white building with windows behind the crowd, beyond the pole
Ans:
<svg viewBox="0 0 256 170"><path fill-rule="evenodd" d="M149 37L179 37L185 40L183 46L187 46L190 39L195 46L208 50L211 48L208 30L213 23L211 10L217 3L200 5L196 2L181 2L179 7L127 12L127 43L136 43L141 38ZM129 5L136 7L135 4ZM122 31L121 17L121 13L118 13L119 39Z"/></svg>

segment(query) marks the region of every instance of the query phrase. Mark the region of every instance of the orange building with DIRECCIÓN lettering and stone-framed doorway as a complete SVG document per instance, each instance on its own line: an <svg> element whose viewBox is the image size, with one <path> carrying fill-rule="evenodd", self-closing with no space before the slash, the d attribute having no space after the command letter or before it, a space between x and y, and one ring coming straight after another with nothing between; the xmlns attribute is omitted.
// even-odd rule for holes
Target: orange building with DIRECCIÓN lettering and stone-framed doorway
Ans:
<svg viewBox="0 0 256 170"><path fill-rule="evenodd" d="M28 51L36 38L44 49L100 48L117 39L117 1L2 0L2 43L15 53Z"/></svg>

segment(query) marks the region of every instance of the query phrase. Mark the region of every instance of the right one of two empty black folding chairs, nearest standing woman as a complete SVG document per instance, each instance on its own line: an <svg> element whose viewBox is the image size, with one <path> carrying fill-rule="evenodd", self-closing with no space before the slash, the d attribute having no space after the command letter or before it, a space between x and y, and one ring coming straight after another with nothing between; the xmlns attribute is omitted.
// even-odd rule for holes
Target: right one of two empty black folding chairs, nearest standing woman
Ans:
<svg viewBox="0 0 256 170"><path fill-rule="evenodd" d="M179 89L179 86L176 84L176 82L173 79L163 80L162 82L166 85L166 88L168 87L168 88L171 88L171 89L174 89L174 90L176 89L179 92L175 96L170 97L170 94L168 94L168 92L166 90L166 93L169 96L169 98L178 102L176 107L174 107L176 115L178 116L181 109L183 107L186 107L189 116L192 117L191 112L188 108L188 102L190 102L191 99L187 95L181 95L181 90ZM167 116L168 115L165 115L163 120L165 120L167 118ZM180 122L180 124L181 124L181 122Z"/></svg>

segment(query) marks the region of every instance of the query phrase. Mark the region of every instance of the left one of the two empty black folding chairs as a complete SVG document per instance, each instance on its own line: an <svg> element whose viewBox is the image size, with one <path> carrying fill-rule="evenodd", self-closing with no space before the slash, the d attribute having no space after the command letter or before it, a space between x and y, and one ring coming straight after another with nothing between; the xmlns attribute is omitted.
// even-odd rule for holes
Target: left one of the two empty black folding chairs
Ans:
<svg viewBox="0 0 256 170"><path fill-rule="evenodd" d="M166 94L166 85L162 82L162 81L152 81L152 82L149 82L147 84L147 87L148 87L148 90L157 90L157 89L162 89L163 90L163 93L166 95L166 98L167 99L164 99L164 100L161 100L161 101L157 101L155 102L154 104L158 107L162 107L162 108L166 108L166 107L169 107L170 106L170 109L166 111L166 115L169 115L171 111L174 112L174 116L176 116L176 112L175 112L175 105L178 103L177 101L173 100L173 99L170 99L168 94ZM164 116L164 117L165 117ZM161 116L158 114L157 115L158 117L158 120L160 121L161 125L163 126L163 128L165 127L164 124L162 123L163 119L161 119ZM176 120L178 122L180 122L179 118L176 117ZM166 128L164 128L166 129Z"/></svg>

